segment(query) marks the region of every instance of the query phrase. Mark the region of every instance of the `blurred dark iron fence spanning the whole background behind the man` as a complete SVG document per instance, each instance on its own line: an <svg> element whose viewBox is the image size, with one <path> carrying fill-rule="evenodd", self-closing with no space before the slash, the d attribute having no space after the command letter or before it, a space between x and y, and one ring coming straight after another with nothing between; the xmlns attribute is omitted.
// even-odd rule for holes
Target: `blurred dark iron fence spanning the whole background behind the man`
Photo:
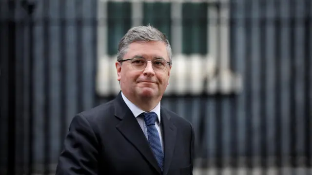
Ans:
<svg viewBox="0 0 312 175"><path fill-rule="evenodd" d="M195 173L312 174L311 0L1 0L1 175L54 173L72 117L119 90L116 43L145 23L173 45L162 103L195 126Z"/></svg>

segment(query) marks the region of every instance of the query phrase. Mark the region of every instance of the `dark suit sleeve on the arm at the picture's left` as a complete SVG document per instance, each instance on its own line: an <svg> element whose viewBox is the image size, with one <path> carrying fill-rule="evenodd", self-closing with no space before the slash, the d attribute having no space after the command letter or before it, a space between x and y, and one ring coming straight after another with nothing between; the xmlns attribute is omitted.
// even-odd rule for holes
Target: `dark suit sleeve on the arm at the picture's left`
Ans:
<svg viewBox="0 0 312 175"><path fill-rule="evenodd" d="M97 175L98 140L87 119L76 115L64 140L56 175Z"/></svg>

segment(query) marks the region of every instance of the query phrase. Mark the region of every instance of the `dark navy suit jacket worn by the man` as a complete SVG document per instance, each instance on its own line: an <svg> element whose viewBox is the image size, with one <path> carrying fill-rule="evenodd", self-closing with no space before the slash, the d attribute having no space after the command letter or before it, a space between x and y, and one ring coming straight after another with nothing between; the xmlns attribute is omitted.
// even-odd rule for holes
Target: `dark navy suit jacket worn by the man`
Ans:
<svg viewBox="0 0 312 175"><path fill-rule="evenodd" d="M77 114L70 124L56 175L192 175L191 123L161 106L164 171L119 92L116 99Z"/></svg>

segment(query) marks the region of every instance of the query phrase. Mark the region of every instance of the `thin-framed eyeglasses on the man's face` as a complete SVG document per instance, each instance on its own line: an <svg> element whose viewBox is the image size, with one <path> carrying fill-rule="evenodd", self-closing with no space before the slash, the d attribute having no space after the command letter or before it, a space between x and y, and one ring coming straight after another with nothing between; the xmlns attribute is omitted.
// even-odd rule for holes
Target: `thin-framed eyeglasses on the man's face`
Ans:
<svg viewBox="0 0 312 175"><path fill-rule="evenodd" d="M147 61L144 58L132 58L132 59L124 59L120 60L119 62L124 62L124 61L130 61L132 67L135 70L144 70L147 66L147 62L152 62L152 67L154 71L157 72L163 72L166 70L167 65L170 65L170 62L167 62L166 60L163 59L156 59L153 61Z"/></svg>

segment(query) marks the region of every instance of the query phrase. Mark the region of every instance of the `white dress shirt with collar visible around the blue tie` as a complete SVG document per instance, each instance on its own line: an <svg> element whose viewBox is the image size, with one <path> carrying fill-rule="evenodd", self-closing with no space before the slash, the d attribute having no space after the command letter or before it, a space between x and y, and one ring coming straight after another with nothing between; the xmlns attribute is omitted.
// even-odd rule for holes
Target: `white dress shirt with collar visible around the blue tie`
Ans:
<svg viewBox="0 0 312 175"><path fill-rule="evenodd" d="M141 113L146 112L146 111L143 111L142 109L137 107L135 104L130 102L130 100L128 100L127 97L122 92L121 92L121 96L123 98L123 101L126 103L126 105L129 107L129 109L132 111L133 115L136 117L138 124L140 125L146 139L148 140L146 123L145 123L143 117L138 117ZM162 150L164 150L163 141L162 141L162 129L161 129L161 125L160 125L161 124L160 123L160 102L158 103L158 105L156 105L156 107L154 109L152 109L151 111L148 111L148 112L155 112L157 114L158 121L156 120L155 126L156 126L156 129L157 129L159 137L160 137L160 143L161 143Z"/></svg>

